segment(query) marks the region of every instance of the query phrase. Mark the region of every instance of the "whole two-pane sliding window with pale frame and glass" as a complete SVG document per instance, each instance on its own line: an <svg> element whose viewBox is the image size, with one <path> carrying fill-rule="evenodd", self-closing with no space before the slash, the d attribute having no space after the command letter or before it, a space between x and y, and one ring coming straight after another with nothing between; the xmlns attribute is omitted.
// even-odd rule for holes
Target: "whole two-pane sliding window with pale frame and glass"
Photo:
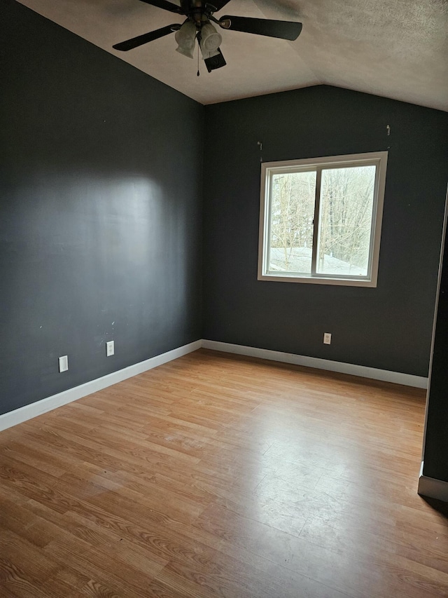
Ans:
<svg viewBox="0 0 448 598"><path fill-rule="evenodd" d="M377 286L387 151L263 163L258 280Z"/></svg>

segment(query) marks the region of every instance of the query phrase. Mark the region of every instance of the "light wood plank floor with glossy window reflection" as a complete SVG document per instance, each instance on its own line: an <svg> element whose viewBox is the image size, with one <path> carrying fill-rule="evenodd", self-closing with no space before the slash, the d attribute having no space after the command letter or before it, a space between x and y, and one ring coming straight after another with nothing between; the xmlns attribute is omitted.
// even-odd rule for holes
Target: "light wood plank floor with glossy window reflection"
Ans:
<svg viewBox="0 0 448 598"><path fill-rule="evenodd" d="M448 596L422 390L197 351L0 433L0 596Z"/></svg>

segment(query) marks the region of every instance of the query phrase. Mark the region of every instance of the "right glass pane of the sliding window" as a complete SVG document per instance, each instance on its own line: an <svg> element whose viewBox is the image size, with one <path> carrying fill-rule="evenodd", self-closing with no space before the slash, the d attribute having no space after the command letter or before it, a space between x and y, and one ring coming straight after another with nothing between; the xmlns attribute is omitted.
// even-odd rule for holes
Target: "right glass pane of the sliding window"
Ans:
<svg viewBox="0 0 448 598"><path fill-rule="evenodd" d="M316 271L367 276L375 166L322 170Z"/></svg>

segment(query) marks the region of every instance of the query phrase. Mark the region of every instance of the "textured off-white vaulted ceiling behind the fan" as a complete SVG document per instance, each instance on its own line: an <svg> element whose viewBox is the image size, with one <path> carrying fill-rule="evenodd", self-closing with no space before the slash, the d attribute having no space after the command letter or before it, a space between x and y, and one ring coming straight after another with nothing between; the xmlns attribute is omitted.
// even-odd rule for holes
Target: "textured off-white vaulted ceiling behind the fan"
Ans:
<svg viewBox="0 0 448 598"><path fill-rule="evenodd" d="M290 42L221 31L228 64L210 74L201 64L200 77L174 35L112 49L182 22L174 13L139 0L20 2L202 104L328 83L448 111L447 0L232 0L221 14L298 20L302 34Z"/></svg>

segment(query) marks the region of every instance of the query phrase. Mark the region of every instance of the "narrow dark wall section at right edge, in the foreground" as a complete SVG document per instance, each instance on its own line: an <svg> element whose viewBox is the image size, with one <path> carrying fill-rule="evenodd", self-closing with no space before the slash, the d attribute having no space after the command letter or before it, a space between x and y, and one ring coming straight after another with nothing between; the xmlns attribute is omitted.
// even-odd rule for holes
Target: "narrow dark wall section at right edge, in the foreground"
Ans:
<svg viewBox="0 0 448 598"><path fill-rule="evenodd" d="M423 475L448 482L448 236L445 236L440 290L435 318Z"/></svg>

